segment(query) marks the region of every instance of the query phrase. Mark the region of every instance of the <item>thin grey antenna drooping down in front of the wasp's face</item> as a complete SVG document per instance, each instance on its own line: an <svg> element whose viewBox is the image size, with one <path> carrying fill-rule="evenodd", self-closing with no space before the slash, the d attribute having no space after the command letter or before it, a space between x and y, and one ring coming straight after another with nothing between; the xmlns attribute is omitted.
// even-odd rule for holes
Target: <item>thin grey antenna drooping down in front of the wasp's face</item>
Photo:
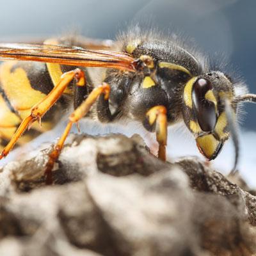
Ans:
<svg viewBox="0 0 256 256"><path fill-rule="evenodd" d="M255 98L256 99L256 98ZM225 114L227 116L228 128L231 134L231 138L235 147L235 159L234 159L234 166L230 171L231 175L237 172L237 163L239 160L239 139L238 139L238 132L237 132L237 122L234 118L234 110L232 109L231 102L227 98L224 99L224 106L225 106Z"/></svg>

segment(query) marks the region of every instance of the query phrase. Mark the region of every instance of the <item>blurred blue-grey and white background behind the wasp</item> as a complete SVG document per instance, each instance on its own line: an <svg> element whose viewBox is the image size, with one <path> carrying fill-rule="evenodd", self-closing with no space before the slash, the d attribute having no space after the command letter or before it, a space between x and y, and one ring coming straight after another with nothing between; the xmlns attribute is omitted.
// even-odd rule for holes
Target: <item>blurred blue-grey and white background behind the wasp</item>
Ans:
<svg viewBox="0 0 256 256"><path fill-rule="evenodd" d="M129 24L148 23L163 31L179 31L194 38L207 54L224 55L231 63L230 69L239 72L250 92L256 93L255 10L255 0L9 0L1 3L0 40L17 42L38 36L47 38L72 30L92 38L115 39L115 35L127 29ZM246 180L256 186L256 157L253 154L256 106L247 104L244 109L248 114L241 124L239 168ZM127 130L127 134L132 132ZM182 132L176 133L177 136L173 136L170 132L170 156L197 154L195 141L188 139L189 136L184 139ZM191 147L185 148L180 143L182 140L191 140L186 144ZM233 151L232 143L227 143L215 161L223 172L232 167Z"/></svg>

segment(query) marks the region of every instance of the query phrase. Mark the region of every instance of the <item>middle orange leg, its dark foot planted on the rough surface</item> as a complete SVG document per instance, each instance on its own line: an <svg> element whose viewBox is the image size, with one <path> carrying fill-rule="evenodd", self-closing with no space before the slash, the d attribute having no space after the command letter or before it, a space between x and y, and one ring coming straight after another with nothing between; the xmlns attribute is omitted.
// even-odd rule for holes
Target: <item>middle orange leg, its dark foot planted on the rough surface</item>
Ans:
<svg viewBox="0 0 256 256"><path fill-rule="evenodd" d="M60 140L58 140L58 143L54 146L51 154L49 155L49 161L47 163L47 168L45 170L47 184L52 183L52 168L54 166L54 163L56 163L58 157L60 156L61 149L63 148L65 140L72 127L72 124L77 123L81 118L83 118L83 116L85 116L88 113L93 103L95 103L100 94L104 93L104 99L108 100L109 92L110 87L106 83L103 83L97 88L94 88L93 91L88 95L86 100L84 100L82 104L77 109L75 109L74 112L69 116L69 122L67 124L67 127L65 128L65 131L63 132Z"/></svg>

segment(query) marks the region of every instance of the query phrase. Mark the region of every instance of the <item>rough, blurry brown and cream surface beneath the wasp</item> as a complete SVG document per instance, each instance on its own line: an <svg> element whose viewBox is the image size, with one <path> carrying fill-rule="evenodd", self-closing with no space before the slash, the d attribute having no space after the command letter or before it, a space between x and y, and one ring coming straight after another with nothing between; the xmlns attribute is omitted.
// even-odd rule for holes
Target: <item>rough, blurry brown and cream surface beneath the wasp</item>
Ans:
<svg viewBox="0 0 256 256"><path fill-rule="evenodd" d="M138 136L71 135L45 186L51 147L0 172L0 255L256 252L256 197L237 175L163 163Z"/></svg>

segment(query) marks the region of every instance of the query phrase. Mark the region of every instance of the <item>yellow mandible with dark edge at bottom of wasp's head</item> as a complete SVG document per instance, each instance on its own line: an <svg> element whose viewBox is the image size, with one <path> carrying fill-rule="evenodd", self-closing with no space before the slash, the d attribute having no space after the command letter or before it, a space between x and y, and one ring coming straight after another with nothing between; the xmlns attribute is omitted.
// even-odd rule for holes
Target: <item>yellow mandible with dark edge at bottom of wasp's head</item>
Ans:
<svg viewBox="0 0 256 256"><path fill-rule="evenodd" d="M211 159L219 147L220 141L216 140L212 134L207 134L196 138L196 144L202 154L208 159Z"/></svg>

